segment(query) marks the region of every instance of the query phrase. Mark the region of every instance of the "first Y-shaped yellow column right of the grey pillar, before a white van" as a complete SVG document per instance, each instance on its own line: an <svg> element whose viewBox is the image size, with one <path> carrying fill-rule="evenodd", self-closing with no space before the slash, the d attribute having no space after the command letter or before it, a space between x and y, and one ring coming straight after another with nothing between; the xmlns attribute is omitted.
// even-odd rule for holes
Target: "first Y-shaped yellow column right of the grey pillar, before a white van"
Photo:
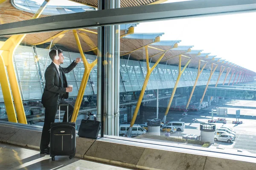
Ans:
<svg viewBox="0 0 256 170"><path fill-rule="evenodd" d="M177 44L175 44L175 47L177 47ZM170 48L171 49L171 48ZM155 64L153 65L152 68L149 68L149 59L148 59L148 45L145 46L145 53L146 53L146 64L147 64L147 74L146 74L146 77L145 77L145 80L144 80L144 83L143 83L143 86L142 86L142 89L140 91L140 96L139 96L139 99L138 99L138 102L137 102L137 105L136 105L136 108L135 108L135 111L134 111L134 115L131 119L131 124L130 124L130 127L129 127L129 130L126 134L126 136L128 137L131 137L131 130L132 130L132 126L134 125L134 122L136 120L136 117L137 117L137 114L138 114L138 111L139 111L139 108L140 108L140 104L141 104L141 101L143 99L143 96L144 96L144 93L145 93L145 89L147 87L147 84L148 84L148 79L150 77L150 74L152 73L152 71L154 70L154 68L157 66L157 64L161 61L161 59L163 59L164 55L167 53L167 51L169 51L170 49L166 50L163 52L163 54L159 57L159 59L157 59L157 62L155 62Z"/></svg>

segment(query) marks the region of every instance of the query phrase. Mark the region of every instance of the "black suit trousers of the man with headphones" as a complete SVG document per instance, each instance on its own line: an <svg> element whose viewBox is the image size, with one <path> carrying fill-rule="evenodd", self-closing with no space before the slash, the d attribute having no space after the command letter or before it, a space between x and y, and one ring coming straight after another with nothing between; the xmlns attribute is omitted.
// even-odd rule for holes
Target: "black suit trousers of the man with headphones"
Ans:
<svg viewBox="0 0 256 170"><path fill-rule="evenodd" d="M58 99L57 103L59 103L58 105L68 104L68 122L70 122L71 118L72 118L73 111L74 111L74 107L72 105L70 105L68 102L66 102L64 99ZM49 130L51 128L51 123L55 122L58 105L45 107L44 127L43 127L43 131L42 131L42 136L41 136L40 150L44 150L45 148L47 148L50 143L50 131ZM67 107L61 106L61 111L65 111L62 122L67 122Z"/></svg>

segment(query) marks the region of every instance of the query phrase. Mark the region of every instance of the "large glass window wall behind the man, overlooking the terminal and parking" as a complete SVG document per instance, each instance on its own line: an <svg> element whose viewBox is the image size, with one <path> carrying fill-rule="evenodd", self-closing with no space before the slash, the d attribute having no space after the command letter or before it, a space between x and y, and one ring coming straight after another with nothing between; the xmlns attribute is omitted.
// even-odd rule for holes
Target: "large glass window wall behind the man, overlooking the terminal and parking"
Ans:
<svg viewBox="0 0 256 170"><path fill-rule="evenodd" d="M15 3L15 7L11 2ZM142 5L146 5L153 1L142 2ZM42 3L43 1L39 0L5 1L0 4L0 24L29 20ZM41 17L96 10L97 3L88 3L88 6L58 8L52 4ZM137 5L121 3L122 8L127 6ZM12 17L9 11L15 11L15 16ZM230 87L256 86L255 82L250 82L250 76L256 71L255 66L253 62L248 62L251 59L248 58L251 56L250 49L254 49L252 40L256 38L253 34L256 27L248 18L255 16L256 13L245 13L121 25L120 41L116 42L120 50L114 51L119 52L119 77L111 79L119 78L119 89L113 90L113 94L119 95L119 107L112 109L111 113L102 111L102 115L98 112L101 106L97 103L100 99L99 93L102 95L106 89L98 89L97 85L100 82L108 88L111 83L106 83L105 80L109 77L101 75L98 68L102 65L105 67L104 71L112 68L106 69L111 64L106 61L97 65L98 52L102 52L98 42L98 38L102 38L98 27L27 34L20 40L21 43L17 45L11 60L17 84L10 79L13 76L12 70L7 68L8 62L5 61L6 67L1 70L1 75L9 79L1 81L0 119L8 121L10 109L16 111L18 104L14 103L15 108L6 108L4 104L5 99L12 101L10 96L15 95L22 100L27 122L31 125L44 125L44 116L47 113L41 98L46 88L46 70L52 63L48 54L52 49L58 48L63 51L63 68L67 68L77 58L82 58L81 62L66 74L67 85L73 85L67 102L79 109L77 117L74 118L77 130L81 120L87 119L88 113L92 112L98 120L101 120L101 116L105 120L110 119L109 117L117 119L119 124L116 123L118 121L115 121L114 125L107 122L105 127L118 129L119 134L116 136L120 139L131 137L150 143L160 141L169 142L172 146L182 144L183 147L191 147L193 144L192 147L197 149L204 146L211 149L224 147L232 150L230 153L241 149L243 153L255 154L255 91ZM116 32L118 31L112 33ZM2 46L9 44L9 38L11 36L0 37L0 51L6 51L7 48L2 49ZM246 48L237 48L245 42ZM109 44L110 42L105 42L105 45ZM108 55L113 56L114 54ZM2 56L2 59L4 57L6 56ZM94 62L96 60L97 62ZM3 63L1 64L3 66ZM225 68L223 72L221 68ZM198 71L201 74L198 74ZM240 80L237 81L238 71L245 72L241 74L245 75L241 77L241 83ZM220 74L222 75L218 79ZM99 80L98 75L103 76L103 82ZM12 93L14 88L18 88L20 94ZM9 96L6 91L10 93ZM109 98L101 101L104 102L104 107L107 104L112 107L115 102ZM227 110L220 114L218 108ZM242 125L233 124L236 120L236 110L240 110L244 116L241 116ZM64 111L61 111L61 116L63 115ZM57 118L58 114L56 122ZM218 129L232 127L236 131L236 139L231 144L221 142L218 138L215 140L213 133L208 138L202 136L203 123L222 118L227 119L227 123L217 121L215 125ZM121 124L125 125L120 127ZM244 124L247 125L246 129ZM105 127L102 127L102 132L109 135ZM166 129L169 129L169 132Z"/></svg>

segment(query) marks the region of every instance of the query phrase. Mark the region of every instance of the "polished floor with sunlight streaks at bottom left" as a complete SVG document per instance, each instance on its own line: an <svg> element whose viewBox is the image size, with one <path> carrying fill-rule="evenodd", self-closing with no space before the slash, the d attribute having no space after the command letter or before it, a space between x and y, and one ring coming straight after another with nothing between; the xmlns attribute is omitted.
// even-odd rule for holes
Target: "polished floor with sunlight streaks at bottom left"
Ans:
<svg viewBox="0 0 256 170"><path fill-rule="evenodd" d="M129 170L108 164L68 156L49 155L11 144L0 143L0 170Z"/></svg>

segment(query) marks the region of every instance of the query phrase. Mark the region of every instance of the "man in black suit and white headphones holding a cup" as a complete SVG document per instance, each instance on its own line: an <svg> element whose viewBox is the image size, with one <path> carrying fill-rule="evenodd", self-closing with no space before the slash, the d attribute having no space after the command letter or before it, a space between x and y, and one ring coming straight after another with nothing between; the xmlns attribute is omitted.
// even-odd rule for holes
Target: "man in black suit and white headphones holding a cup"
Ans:
<svg viewBox="0 0 256 170"><path fill-rule="evenodd" d="M81 61L76 58L67 68L61 68L64 56L63 51L58 49L51 50L49 56L52 63L45 71L45 88L42 96L42 104L45 108L44 127L41 136L40 153L49 154L50 133L49 129L51 123L55 121L55 116L58 110L58 105L68 104L68 120L71 121L74 107L66 102L64 99L68 98L68 93L72 92L72 87L67 87L67 79L65 74L69 73ZM67 107L62 107L61 111L65 111L63 122L67 122Z"/></svg>

